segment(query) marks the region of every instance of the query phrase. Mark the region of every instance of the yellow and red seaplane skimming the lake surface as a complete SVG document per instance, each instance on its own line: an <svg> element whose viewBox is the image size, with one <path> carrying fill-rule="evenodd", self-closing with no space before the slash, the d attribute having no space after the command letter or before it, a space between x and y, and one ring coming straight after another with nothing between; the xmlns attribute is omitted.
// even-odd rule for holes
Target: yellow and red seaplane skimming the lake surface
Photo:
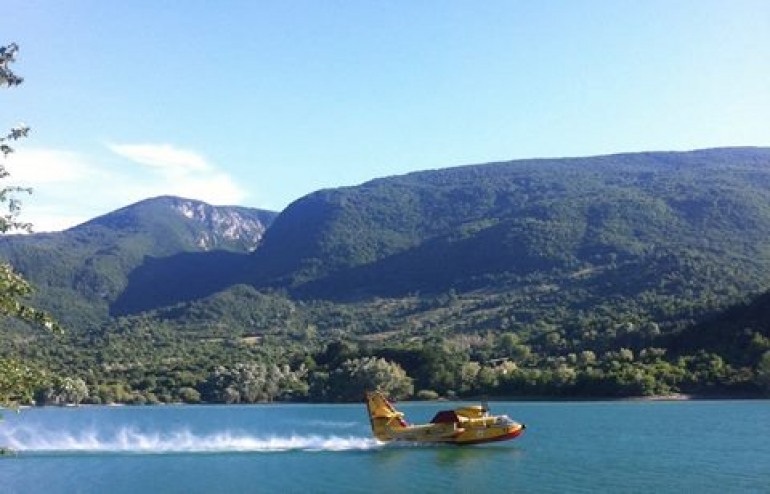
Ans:
<svg viewBox="0 0 770 494"><path fill-rule="evenodd" d="M526 426L507 415L490 415L486 406L468 406L438 412L429 424L412 425L378 392L366 393L372 432L378 441L481 444L519 437Z"/></svg>

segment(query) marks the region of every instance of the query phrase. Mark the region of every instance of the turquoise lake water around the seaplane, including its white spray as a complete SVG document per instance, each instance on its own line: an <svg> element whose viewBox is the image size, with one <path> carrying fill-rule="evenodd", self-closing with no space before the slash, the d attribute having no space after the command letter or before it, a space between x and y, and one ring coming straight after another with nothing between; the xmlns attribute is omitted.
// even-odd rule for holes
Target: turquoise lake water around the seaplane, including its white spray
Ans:
<svg viewBox="0 0 770 494"><path fill-rule="evenodd" d="M399 404L413 422L452 404ZM5 412L0 492L766 492L770 401L499 402L483 446L382 445L363 404Z"/></svg>

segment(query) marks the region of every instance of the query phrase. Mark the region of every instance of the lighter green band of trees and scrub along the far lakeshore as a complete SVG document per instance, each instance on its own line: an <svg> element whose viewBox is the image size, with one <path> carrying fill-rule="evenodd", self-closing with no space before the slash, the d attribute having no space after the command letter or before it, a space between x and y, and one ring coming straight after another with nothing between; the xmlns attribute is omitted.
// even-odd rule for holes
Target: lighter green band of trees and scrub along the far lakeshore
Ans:
<svg viewBox="0 0 770 494"><path fill-rule="evenodd" d="M274 310L287 309L273 300ZM157 319L126 318L105 331L15 342L5 353L39 370L38 404L348 402L375 388L417 399L762 396L770 391L768 301L665 332L653 322L577 318L515 332L437 327L387 338L319 336L306 326L233 336L227 328L184 333ZM462 307L454 296L442 309L463 318ZM335 324L345 320L332 315Z"/></svg>

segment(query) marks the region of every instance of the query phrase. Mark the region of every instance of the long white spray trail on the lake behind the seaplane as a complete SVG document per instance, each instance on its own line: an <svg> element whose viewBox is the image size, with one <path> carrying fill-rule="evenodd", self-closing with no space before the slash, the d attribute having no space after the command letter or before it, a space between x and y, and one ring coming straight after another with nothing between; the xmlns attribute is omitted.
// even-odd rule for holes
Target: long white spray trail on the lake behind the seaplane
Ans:
<svg viewBox="0 0 770 494"><path fill-rule="evenodd" d="M189 430L143 432L122 428L105 434L94 430L80 433L6 429L0 444L17 453L236 453L281 451L362 451L382 447L368 437L288 436L255 437L245 433L221 431L194 434Z"/></svg>

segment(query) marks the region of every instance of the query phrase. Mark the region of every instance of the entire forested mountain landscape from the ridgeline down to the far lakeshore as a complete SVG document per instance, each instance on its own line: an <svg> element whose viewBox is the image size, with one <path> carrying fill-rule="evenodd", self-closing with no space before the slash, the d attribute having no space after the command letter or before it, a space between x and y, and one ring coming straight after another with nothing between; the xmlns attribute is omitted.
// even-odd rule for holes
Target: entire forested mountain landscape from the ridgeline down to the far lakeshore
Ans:
<svg viewBox="0 0 770 494"><path fill-rule="evenodd" d="M378 359L422 396L770 392L767 148L424 171L277 216L156 198L0 257L67 327L3 321L0 358L94 403L328 400Z"/></svg>

